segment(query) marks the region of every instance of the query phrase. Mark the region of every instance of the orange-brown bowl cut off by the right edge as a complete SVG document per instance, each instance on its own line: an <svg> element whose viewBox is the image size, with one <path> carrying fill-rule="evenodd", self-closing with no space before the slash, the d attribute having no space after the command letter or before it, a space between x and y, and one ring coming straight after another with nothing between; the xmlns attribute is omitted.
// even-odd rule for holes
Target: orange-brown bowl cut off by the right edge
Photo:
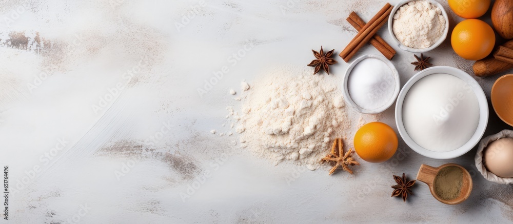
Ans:
<svg viewBox="0 0 513 224"><path fill-rule="evenodd" d="M513 74L503 75L491 88L491 105L506 124L513 126Z"/></svg>

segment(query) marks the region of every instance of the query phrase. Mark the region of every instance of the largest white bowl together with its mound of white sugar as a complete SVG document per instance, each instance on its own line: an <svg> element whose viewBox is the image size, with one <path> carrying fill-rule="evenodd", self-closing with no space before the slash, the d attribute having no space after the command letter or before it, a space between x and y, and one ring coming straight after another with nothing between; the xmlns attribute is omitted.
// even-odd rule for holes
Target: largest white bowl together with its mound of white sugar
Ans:
<svg viewBox="0 0 513 224"><path fill-rule="evenodd" d="M404 142L435 159L459 157L475 147L488 124L488 101L466 72L435 66L413 75L399 93L396 125Z"/></svg>

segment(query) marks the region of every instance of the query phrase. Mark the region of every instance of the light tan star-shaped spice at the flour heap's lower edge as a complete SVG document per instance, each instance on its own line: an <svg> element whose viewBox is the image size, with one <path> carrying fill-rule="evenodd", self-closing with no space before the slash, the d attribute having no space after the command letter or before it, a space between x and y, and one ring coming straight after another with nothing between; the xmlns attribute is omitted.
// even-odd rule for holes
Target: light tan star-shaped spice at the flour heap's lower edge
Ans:
<svg viewBox="0 0 513 224"><path fill-rule="evenodd" d="M344 154L344 149L342 149L342 146L343 146L342 138L336 138L333 141L333 146L331 147L331 152L326 157L321 159L321 161L335 163L333 168L331 168L331 170L329 170L328 175L331 175L339 167L342 167L342 170L345 170L345 171L349 172L350 174L352 174L352 170L349 169L349 166L354 166L354 165L360 166L360 162L354 161L354 159L351 157L352 149L349 149L349 151L346 152L346 154Z"/></svg>

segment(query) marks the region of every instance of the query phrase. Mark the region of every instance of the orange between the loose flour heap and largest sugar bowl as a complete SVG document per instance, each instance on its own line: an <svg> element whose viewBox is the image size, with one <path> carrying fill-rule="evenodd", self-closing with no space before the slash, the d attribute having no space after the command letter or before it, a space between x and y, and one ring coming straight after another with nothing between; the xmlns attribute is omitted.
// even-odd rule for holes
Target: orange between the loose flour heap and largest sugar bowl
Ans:
<svg viewBox="0 0 513 224"><path fill-rule="evenodd" d="M398 139L390 126L372 122L354 134L354 151L365 161L384 162L397 151Z"/></svg>

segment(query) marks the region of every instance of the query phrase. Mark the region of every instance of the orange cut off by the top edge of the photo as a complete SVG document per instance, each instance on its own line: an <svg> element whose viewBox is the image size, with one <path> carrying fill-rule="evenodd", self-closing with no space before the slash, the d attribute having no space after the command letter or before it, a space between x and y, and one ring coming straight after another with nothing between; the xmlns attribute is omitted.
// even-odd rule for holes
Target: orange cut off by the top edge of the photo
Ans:
<svg viewBox="0 0 513 224"><path fill-rule="evenodd" d="M490 0L448 0L449 7L462 18L478 18L490 8Z"/></svg>

